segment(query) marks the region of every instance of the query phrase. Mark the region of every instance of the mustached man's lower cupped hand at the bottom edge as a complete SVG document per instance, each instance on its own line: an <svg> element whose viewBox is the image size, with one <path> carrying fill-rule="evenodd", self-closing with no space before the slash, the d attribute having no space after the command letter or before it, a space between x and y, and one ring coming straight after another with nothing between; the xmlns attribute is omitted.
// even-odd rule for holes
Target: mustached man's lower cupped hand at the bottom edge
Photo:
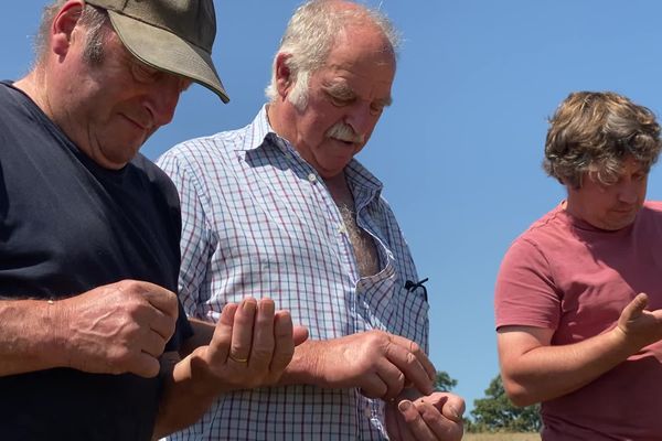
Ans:
<svg viewBox="0 0 662 441"><path fill-rule="evenodd" d="M462 413L465 400L453 394L401 396L386 404L386 430L394 441L458 441L465 432Z"/></svg>

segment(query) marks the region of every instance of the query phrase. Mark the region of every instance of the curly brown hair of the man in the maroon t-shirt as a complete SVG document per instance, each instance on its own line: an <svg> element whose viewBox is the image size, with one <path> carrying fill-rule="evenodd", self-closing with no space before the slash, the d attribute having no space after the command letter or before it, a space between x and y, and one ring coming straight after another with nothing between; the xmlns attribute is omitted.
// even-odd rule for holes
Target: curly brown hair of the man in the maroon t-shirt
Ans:
<svg viewBox="0 0 662 441"><path fill-rule="evenodd" d="M575 189L587 172L611 185L627 158L648 173L661 149L660 126L651 110L612 92L577 92L549 119L543 168Z"/></svg>

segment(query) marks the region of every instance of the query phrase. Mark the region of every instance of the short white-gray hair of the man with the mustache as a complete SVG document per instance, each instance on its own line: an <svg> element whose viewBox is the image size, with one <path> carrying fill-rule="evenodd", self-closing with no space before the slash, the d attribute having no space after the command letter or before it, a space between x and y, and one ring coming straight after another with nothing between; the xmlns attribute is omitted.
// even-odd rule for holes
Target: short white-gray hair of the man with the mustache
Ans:
<svg viewBox="0 0 662 441"><path fill-rule="evenodd" d="M376 26L397 56L401 35L382 11L359 4L356 8L340 8L341 3L335 0L309 0L295 11L274 57L271 83L265 89L269 100L274 101L278 95L276 60L279 54L289 54L286 65L296 84L288 99L295 107L306 108L310 75L324 65L338 35L348 28L366 24Z"/></svg>

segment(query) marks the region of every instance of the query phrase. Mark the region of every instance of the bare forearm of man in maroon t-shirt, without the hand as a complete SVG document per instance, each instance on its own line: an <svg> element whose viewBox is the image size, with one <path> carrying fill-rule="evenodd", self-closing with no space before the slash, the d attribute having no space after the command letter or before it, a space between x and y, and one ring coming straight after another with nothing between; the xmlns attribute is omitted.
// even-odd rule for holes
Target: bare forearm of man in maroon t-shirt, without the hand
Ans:
<svg viewBox="0 0 662 441"><path fill-rule="evenodd" d="M502 335L499 338L502 348ZM586 386L637 351L618 329L575 344L533 347L519 356L501 349L504 388L517 406L547 401Z"/></svg>

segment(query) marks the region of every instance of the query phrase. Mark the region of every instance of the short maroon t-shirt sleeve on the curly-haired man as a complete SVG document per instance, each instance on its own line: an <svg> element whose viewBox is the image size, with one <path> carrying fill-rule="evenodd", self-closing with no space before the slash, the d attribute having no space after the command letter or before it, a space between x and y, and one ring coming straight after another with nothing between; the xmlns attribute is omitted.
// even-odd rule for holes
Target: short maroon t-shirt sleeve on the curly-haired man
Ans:
<svg viewBox="0 0 662 441"><path fill-rule="evenodd" d="M555 330L560 297L549 262L533 241L517 238L505 254L494 290L496 329L508 325Z"/></svg>

